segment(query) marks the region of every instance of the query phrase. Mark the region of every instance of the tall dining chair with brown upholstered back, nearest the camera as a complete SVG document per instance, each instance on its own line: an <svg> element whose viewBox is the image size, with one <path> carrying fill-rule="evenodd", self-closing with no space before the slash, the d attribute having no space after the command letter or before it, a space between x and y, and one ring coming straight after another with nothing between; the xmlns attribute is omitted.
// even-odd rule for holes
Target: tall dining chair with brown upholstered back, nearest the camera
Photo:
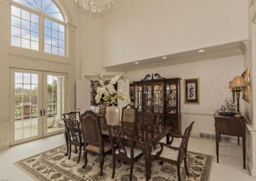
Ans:
<svg viewBox="0 0 256 181"><path fill-rule="evenodd" d="M100 176L103 175L104 157L111 152L111 143L104 141L100 129L100 117L88 110L81 114L81 123L84 135L84 165L87 164L87 153L96 154L100 157Z"/></svg>

